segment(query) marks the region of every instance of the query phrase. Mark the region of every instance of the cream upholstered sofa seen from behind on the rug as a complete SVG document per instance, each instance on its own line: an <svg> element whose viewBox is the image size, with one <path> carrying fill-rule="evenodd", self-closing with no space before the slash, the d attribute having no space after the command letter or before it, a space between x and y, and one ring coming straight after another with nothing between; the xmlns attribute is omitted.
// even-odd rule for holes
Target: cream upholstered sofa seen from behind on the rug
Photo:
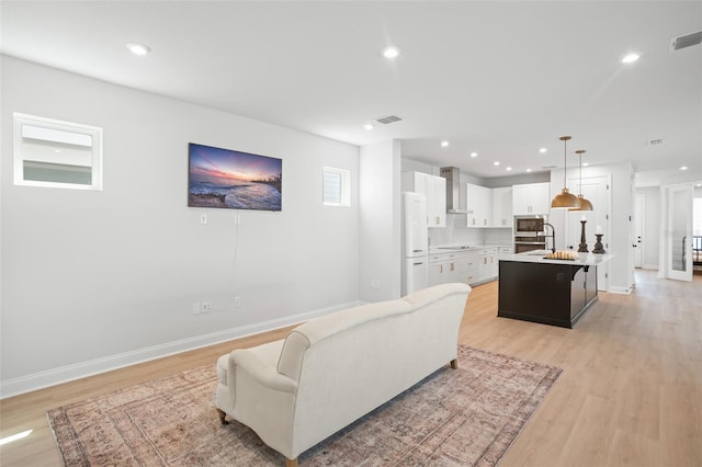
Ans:
<svg viewBox="0 0 702 467"><path fill-rule="evenodd" d="M471 287L442 284L313 319L217 361L216 407L283 454L315 444L443 365L456 367Z"/></svg>

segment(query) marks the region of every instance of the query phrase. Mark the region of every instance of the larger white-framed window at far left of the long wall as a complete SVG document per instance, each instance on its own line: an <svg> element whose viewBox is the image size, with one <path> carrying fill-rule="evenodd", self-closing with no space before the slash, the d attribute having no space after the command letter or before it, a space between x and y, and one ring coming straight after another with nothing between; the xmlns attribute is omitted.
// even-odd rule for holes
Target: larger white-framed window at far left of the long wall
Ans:
<svg viewBox="0 0 702 467"><path fill-rule="evenodd" d="M16 185L102 190L102 128L13 116Z"/></svg>

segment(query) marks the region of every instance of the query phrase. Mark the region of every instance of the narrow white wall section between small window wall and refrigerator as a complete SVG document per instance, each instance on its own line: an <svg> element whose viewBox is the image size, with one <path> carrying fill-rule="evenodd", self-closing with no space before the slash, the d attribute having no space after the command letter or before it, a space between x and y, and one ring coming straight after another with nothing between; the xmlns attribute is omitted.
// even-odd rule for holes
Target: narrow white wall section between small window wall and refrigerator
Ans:
<svg viewBox="0 0 702 467"><path fill-rule="evenodd" d="M401 295L400 143L363 146L360 156L360 297Z"/></svg>

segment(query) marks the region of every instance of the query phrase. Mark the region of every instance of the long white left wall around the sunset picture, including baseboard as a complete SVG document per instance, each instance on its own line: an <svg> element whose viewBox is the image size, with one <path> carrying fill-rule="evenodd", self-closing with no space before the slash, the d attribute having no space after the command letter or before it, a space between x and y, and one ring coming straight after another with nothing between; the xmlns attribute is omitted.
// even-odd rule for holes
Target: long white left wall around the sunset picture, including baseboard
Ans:
<svg viewBox="0 0 702 467"><path fill-rule="evenodd" d="M358 303L358 147L1 60L2 397ZM103 127L104 191L14 186L13 112ZM283 210L186 207L189 141L283 159ZM352 207L322 206L324 166Z"/></svg>

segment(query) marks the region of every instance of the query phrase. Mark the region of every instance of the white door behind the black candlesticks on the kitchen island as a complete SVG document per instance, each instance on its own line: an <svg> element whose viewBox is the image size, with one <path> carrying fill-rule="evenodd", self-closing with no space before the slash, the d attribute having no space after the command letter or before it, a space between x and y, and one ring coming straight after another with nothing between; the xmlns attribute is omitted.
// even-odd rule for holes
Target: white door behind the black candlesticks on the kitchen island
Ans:
<svg viewBox="0 0 702 467"><path fill-rule="evenodd" d="M582 236L582 224L585 220L585 242L587 244L588 252L592 252L595 249L595 242L598 232L598 228L602 234L602 243L604 250L609 251L609 213L610 213L610 198L609 198L609 176L592 176L582 179L582 185L580 189L579 179L570 179L568 185L573 189L573 193L582 193L587 200L592 203L592 210L568 210L566 219L566 232L565 232L565 246L566 248L573 247L574 251L578 251L580 239ZM609 264L598 266L597 269L597 284L598 289L609 289Z"/></svg>

